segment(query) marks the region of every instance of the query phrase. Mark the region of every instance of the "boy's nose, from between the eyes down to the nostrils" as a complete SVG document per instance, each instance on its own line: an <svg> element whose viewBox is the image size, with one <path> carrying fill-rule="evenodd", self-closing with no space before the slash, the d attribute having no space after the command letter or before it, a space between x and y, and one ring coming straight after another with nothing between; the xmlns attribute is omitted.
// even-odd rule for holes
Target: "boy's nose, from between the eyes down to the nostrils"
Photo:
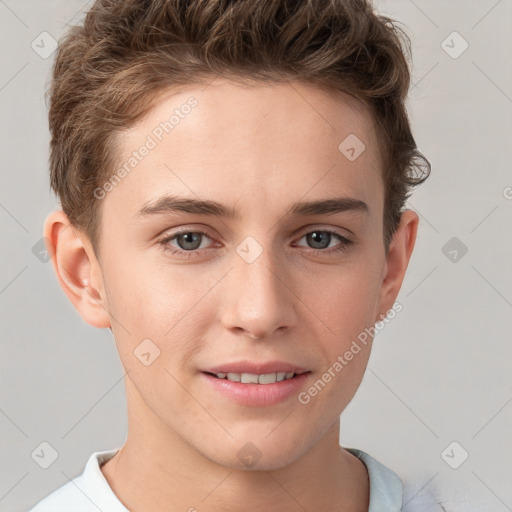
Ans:
<svg viewBox="0 0 512 512"><path fill-rule="evenodd" d="M292 328L297 322L297 298L289 267L287 271L282 258L267 247L254 261L240 254L233 254L233 268L223 286L223 326L252 339Z"/></svg>

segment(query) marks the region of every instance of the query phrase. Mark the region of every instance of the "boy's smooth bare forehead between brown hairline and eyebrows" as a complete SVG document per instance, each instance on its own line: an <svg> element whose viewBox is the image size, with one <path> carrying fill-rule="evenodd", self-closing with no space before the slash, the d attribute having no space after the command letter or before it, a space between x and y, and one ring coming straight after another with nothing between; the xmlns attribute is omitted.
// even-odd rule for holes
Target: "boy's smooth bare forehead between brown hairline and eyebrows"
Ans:
<svg viewBox="0 0 512 512"><path fill-rule="evenodd" d="M127 172L104 208L130 215L164 193L236 199L255 211L327 192L377 209L381 201L369 113L350 96L304 82L216 79L168 89L140 122L117 135L116 146L117 169Z"/></svg>

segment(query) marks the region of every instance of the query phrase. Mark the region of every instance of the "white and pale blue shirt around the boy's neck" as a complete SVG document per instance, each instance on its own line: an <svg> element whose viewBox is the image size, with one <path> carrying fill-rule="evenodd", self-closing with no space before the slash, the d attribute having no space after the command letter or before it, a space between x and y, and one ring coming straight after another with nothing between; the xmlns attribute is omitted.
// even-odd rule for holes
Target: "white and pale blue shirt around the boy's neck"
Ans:
<svg viewBox="0 0 512 512"><path fill-rule="evenodd" d="M46 496L28 512L129 512L112 491L100 466L119 448L94 452L83 473ZM345 448L366 466L370 481L368 512L401 512L403 483L388 467L357 448ZM443 512L435 502L418 503L404 512Z"/></svg>

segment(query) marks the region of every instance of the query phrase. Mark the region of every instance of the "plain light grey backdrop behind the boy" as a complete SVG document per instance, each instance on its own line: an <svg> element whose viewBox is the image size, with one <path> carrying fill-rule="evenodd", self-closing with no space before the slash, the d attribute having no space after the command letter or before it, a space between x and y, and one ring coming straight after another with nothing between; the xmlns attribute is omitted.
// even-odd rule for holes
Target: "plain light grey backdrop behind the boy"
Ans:
<svg viewBox="0 0 512 512"><path fill-rule="evenodd" d="M58 39L90 5L0 0L4 512L26 510L81 473L93 451L120 446L127 432L110 331L79 317L51 264L32 251L57 203L43 99L52 59L31 43L43 31ZM340 442L413 478L421 493L450 492L447 512L470 509L463 492L475 510L512 510L512 1L376 6L411 35L410 115L433 170L408 203L420 228L398 297L404 309L375 339L342 415ZM453 31L469 44L458 58L442 46ZM461 48L453 36L446 44ZM467 247L456 262L445 255L453 237ZM43 441L59 455L48 469L31 457ZM458 469L441 457L453 441L469 453Z"/></svg>

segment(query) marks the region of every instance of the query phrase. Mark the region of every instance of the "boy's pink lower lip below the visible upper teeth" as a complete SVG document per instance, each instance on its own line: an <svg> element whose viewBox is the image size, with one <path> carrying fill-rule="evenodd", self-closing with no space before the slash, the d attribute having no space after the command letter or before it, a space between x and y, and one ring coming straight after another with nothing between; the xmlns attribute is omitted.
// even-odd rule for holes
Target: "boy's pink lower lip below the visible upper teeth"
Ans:
<svg viewBox="0 0 512 512"><path fill-rule="evenodd" d="M208 373L204 377L213 389L242 405L263 407L282 402L297 395L304 386L311 372L301 373L293 379L282 380L272 384L242 384L227 379L219 379Z"/></svg>

